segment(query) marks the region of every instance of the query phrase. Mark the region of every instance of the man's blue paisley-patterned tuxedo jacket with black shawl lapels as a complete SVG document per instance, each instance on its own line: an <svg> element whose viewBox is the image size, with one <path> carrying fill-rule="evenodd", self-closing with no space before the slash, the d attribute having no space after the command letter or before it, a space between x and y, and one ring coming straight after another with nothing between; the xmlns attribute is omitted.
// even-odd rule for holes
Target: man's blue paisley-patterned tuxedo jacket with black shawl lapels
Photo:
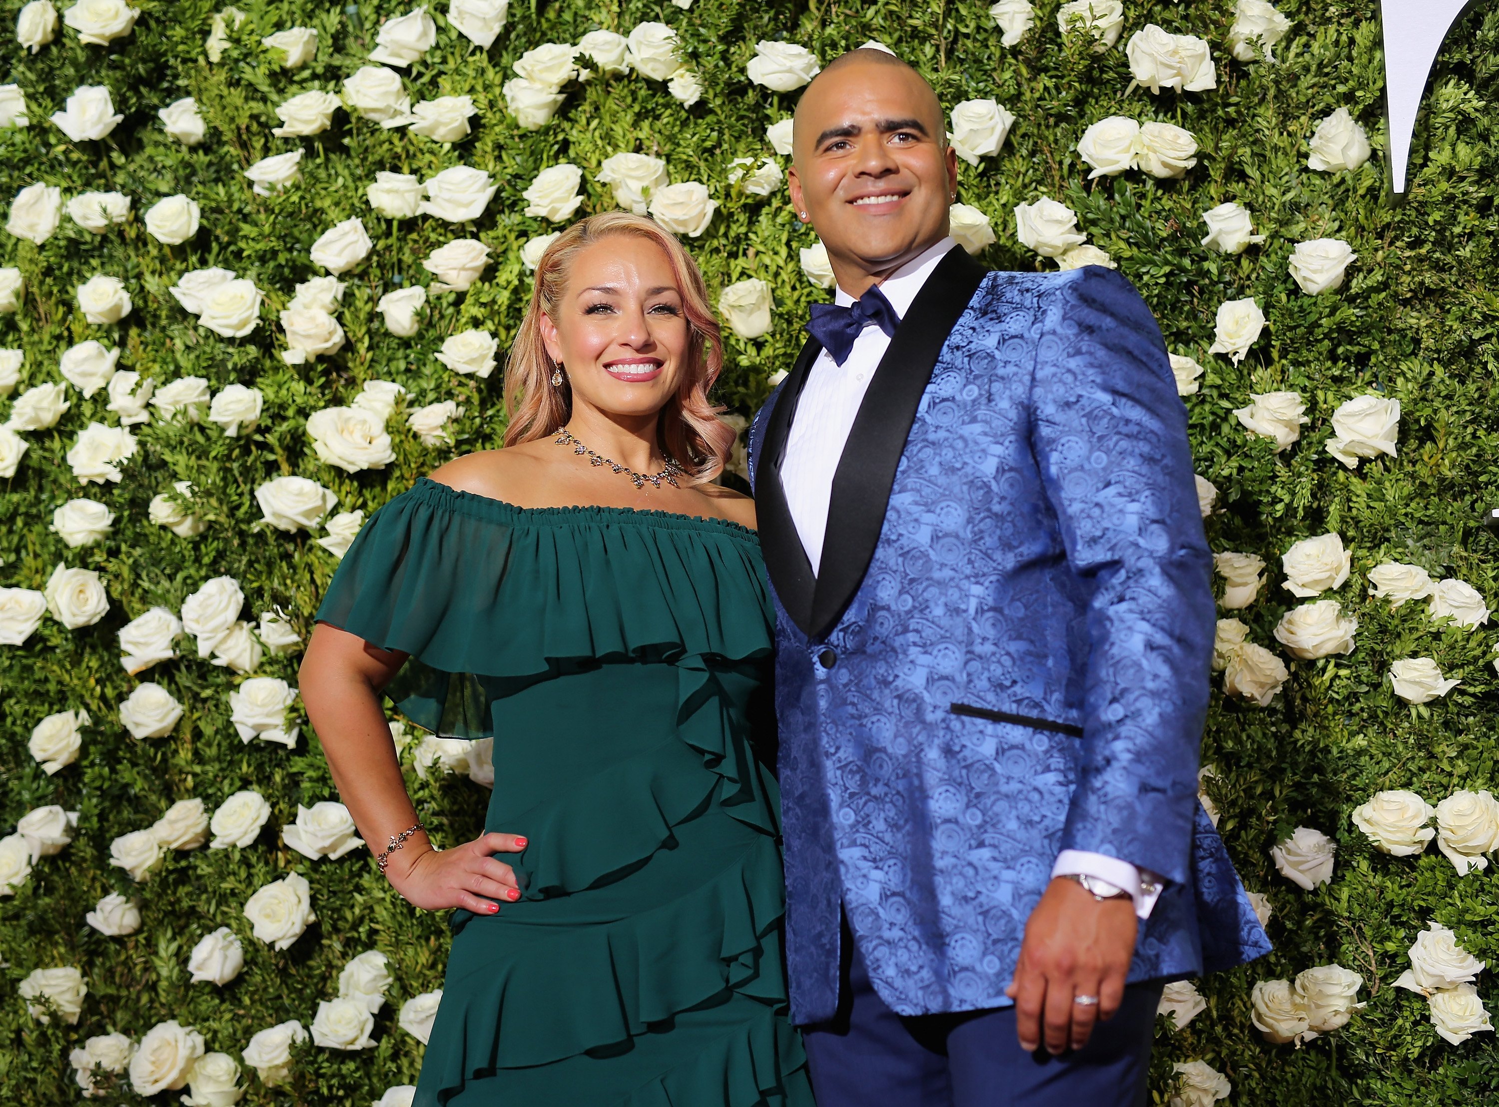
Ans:
<svg viewBox="0 0 1499 1107"><path fill-rule="evenodd" d="M1139 294L1097 265L943 258L865 394L814 577L778 466L817 352L750 434L776 598L793 1020L833 1016L839 900L895 1011L1009 1005L1067 848L1169 881L1132 981L1267 953L1198 801L1211 556Z"/></svg>

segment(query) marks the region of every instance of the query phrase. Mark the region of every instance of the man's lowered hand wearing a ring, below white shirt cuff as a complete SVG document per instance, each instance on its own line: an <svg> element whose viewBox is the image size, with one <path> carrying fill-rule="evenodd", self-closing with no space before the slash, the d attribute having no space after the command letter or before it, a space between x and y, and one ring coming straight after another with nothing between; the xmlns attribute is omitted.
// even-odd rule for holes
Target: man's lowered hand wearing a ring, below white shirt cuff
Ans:
<svg viewBox="0 0 1499 1107"><path fill-rule="evenodd" d="M1004 995L1015 1001L1021 1049L1033 1053L1045 1028L1046 1050L1082 1049L1097 1019L1111 1019L1124 999L1124 978L1135 954L1135 903L1096 900L1076 881L1055 878L1025 921L1015 983ZM1097 996L1075 1004L1073 996Z"/></svg>

